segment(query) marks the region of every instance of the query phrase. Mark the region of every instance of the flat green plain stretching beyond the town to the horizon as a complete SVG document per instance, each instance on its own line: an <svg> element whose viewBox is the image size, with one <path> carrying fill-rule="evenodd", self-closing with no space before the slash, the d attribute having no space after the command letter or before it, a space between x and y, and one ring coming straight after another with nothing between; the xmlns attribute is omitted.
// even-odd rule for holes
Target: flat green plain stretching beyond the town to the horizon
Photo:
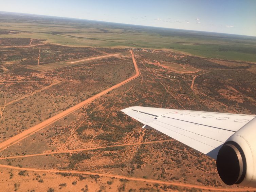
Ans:
<svg viewBox="0 0 256 192"><path fill-rule="evenodd" d="M172 49L207 58L256 62L256 37L251 36L0 12L0 38L17 37L67 46Z"/></svg>

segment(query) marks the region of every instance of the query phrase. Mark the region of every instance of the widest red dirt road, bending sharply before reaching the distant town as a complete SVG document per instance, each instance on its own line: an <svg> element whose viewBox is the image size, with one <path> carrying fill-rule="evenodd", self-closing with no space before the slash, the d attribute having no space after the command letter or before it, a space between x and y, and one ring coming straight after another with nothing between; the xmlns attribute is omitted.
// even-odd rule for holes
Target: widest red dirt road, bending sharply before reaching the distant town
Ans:
<svg viewBox="0 0 256 192"><path fill-rule="evenodd" d="M114 85L114 86L112 86L111 88L108 88L108 89L104 90L103 92L100 92L100 93L90 97L89 99L86 99L85 101L82 101L82 102L76 104L75 106L67 109L66 111L63 111L63 112L61 112L61 113L59 113L59 114L57 114L57 115L55 115L55 116L45 120L45 121L37 124L36 126L30 128L30 129L27 129L27 130L23 131L22 133L20 133L18 135L15 135L15 136L13 136L13 137L3 141L2 143L0 143L0 151L6 149L7 147L10 147L10 146L14 145L15 143L25 139L26 137L36 133L37 131L39 131L39 130L47 127L47 126L49 126L50 124L58 121L59 119L69 115L70 113L73 113L74 111L76 111L80 107L83 107L84 105L90 103L91 101L99 98L102 95L105 95L106 93L112 91L113 89L116 89L116 88L120 87L121 85L123 85L123 84L125 84L125 83L127 83L127 82L129 82L129 81L131 81L131 80L133 80L135 78L137 78L140 75L140 72L139 72L137 63L136 63L136 61L134 59L134 55L133 55L132 51L131 51L131 55L132 55L132 61L133 61L133 64L134 64L134 68L135 68L135 71L136 71L135 75L133 75L132 77L130 77L130 78L128 78L128 79L126 79L126 80L124 80L124 81Z"/></svg>

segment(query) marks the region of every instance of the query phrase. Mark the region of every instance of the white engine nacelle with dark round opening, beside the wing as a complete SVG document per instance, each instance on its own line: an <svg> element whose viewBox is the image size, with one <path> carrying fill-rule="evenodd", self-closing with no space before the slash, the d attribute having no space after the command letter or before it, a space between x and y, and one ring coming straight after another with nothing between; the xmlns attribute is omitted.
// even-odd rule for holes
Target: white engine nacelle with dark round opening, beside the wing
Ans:
<svg viewBox="0 0 256 192"><path fill-rule="evenodd" d="M227 185L256 187L256 117L221 147L217 156L217 170Z"/></svg>

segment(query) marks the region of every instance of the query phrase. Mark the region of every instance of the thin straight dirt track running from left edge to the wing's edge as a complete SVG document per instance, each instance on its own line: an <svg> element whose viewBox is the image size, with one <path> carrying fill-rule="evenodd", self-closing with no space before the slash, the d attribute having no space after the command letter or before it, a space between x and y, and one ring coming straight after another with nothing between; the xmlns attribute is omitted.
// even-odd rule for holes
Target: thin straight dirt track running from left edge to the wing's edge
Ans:
<svg viewBox="0 0 256 192"><path fill-rule="evenodd" d="M19 156L13 156L13 157L0 157L0 160L2 160L2 159L23 158L23 157L34 157L34 156L42 156L42 155L51 155L51 154L59 154L59 153L75 153L75 152L80 152L80 151L90 151L90 150L96 150L96 149L106 149L106 148L111 148L111 147L146 145L146 144L152 144L152 143L163 143L163 142L168 142L168 141L175 141L175 140L174 139L169 139L169 140L162 140L162 141L137 142L137 143L128 143L128 144L120 144L120 145L110 145L110 146L104 146L104 147L94 147L94 148L85 148L85 149L72 149L72 150L54 151L54 152L48 152L48 153L37 153L37 154L30 154L30 155L19 155Z"/></svg>

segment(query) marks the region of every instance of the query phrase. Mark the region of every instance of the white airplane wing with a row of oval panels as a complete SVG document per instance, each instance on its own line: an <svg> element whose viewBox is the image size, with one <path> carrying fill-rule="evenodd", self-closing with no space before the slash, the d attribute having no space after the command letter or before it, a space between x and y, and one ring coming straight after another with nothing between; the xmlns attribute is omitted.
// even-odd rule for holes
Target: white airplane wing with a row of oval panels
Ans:
<svg viewBox="0 0 256 192"><path fill-rule="evenodd" d="M186 111L150 107L121 110L146 126L156 129L185 145L217 158L223 143L255 115Z"/></svg>

